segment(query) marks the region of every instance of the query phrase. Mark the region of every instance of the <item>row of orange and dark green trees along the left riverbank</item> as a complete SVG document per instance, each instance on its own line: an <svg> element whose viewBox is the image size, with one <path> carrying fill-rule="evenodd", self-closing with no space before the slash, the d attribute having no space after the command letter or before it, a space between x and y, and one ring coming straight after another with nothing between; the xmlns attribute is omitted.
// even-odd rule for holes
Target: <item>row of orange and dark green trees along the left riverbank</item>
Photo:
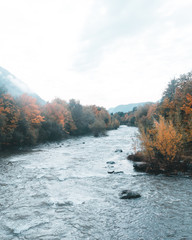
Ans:
<svg viewBox="0 0 192 240"><path fill-rule="evenodd" d="M13 98L0 88L1 149L57 141L71 135L99 136L118 127L118 120L103 107L83 106L74 99L66 102L60 98L39 105L27 94Z"/></svg>

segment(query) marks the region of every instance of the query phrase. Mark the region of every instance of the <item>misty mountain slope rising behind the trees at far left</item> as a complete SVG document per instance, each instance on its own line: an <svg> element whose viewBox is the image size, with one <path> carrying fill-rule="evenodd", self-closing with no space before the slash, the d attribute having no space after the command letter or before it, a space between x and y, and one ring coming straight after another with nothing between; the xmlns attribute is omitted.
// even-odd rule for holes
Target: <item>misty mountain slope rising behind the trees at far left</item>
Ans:
<svg viewBox="0 0 192 240"><path fill-rule="evenodd" d="M36 98L39 104L45 104L45 101L36 93L32 92L24 82L2 67L0 67L0 87L5 88L13 97L18 97L23 93L27 93L28 95Z"/></svg>

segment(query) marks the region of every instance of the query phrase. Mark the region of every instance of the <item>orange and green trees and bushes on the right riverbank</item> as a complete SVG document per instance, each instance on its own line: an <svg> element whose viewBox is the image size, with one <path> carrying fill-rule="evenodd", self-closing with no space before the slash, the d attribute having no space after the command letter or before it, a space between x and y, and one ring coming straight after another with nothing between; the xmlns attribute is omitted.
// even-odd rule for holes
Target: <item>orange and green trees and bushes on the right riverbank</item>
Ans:
<svg viewBox="0 0 192 240"><path fill-rule="evenodd" d="M161 101L114 116L138 126L142 150L130 158L144 161L145 171L192 172L192 72L173 79Z"/></svg>

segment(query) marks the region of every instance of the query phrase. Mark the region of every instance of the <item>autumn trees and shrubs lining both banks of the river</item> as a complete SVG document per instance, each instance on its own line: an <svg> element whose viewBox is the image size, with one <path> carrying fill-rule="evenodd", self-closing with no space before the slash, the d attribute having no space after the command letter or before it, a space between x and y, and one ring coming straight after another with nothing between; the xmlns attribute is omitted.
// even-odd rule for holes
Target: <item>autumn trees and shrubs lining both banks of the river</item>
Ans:
<svg viewBox="0 0 192 240"><path fill-rule="evenodd" d="M0 148L56 141L70 135L105 134L119 124L137 126L142 151L132 158L148 172L192 170L192 72L173 79L161 101L109 114L103 107L82 106L56 98L39 105L23 94L13 98L0 88Z"/></svg>

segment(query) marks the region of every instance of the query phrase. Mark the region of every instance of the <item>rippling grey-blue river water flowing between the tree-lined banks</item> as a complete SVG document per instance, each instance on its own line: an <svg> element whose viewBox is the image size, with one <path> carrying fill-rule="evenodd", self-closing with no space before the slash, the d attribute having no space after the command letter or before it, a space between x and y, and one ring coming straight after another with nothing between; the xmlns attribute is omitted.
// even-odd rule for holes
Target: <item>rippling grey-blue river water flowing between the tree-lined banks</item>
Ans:
<svg viewBox="0 0 192 240"><path fill-rule="evenodd" d="M1 157L0 239L191 240L192 179L134 172L135 133L121 126ZM124 189L141 198L119 199Z"/></svg>

